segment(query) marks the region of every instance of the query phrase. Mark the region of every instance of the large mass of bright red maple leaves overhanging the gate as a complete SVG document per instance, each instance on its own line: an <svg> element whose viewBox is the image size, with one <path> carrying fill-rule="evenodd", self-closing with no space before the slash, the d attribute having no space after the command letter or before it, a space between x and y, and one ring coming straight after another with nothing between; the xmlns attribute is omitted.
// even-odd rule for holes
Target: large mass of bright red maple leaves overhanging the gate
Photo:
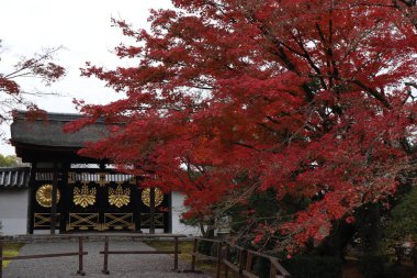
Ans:
<svg viewBox="0 0 417 278"><path fill-rule="evenodd" d="M183 191L185 216L270 188L280 208L303 198L308 205L258 230L257 240L279 233L290 249L395 193L416 134L413 1L173 4L151 12L150 32L114 22L133 38L116 48L131 67L83 70L123 98L78 102L91 118L69 130L103 116L112 131L82 154Z"/></svg>

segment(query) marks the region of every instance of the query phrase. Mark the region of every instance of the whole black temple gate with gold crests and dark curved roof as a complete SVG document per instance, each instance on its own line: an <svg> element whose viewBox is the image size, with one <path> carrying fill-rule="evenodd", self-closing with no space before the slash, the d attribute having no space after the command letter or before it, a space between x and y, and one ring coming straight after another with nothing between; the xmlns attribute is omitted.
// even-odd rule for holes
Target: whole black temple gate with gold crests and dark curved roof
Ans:
<svg viewBox="0 0 417 278"><path fill-rule="evenodd" d="M27 121L25 112L14 115L11 142L18 156L32 164L29 232L170 232L170 194L143 189L142 177L77 154L87 142L108 134L102 122L65 134L64 125L79 116L49 113Z"/></svg>

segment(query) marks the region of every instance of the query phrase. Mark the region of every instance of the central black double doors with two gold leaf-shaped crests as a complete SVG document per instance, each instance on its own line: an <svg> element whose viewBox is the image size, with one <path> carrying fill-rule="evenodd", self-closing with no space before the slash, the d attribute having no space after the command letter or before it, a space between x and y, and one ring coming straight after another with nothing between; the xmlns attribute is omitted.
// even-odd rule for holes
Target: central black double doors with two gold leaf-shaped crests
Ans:
<svg viewBox="0 0 417 278"><path fill-rule="evenodd" d="M69 173L71 197L67 231L136 230L133 182L129 176L110 173Z"/></svg>

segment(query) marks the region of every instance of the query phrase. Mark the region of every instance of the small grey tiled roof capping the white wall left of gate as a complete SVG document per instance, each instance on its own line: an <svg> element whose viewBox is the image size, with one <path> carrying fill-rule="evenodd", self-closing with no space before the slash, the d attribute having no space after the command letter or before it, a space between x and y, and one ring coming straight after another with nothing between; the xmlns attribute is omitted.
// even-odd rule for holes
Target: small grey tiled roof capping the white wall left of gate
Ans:
<svg viewBox="0 0 417 278"><path fill-rule="evenodd" d="M0 189L27 188L30 174L30 167L0 167Z"/></svg>

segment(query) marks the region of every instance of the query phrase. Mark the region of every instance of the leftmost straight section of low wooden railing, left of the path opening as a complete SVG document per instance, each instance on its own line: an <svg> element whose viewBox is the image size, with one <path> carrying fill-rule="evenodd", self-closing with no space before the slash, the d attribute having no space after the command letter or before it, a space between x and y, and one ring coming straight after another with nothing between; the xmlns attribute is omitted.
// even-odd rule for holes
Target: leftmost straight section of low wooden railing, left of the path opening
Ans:
<svg viewBox="0 0 417 278"><path fill-rule="evenodd" d="M52 238L63 238L63 236L52 236ZM64 238L69 238L65 236ZM54 253L54 254L36 254L36 255L26 255L26 256L14 256L14 257L3 257L3 244L4 242L10 242L10 240L0 240L0 278L3 277L3 260L15 260L15 259L35 259L35 258L56 258L56 257L68 257L68 256L78 256L78 270L77 275L84 276L83 271L83 256L88 255L88 252L83 251L83 236L78 236L78 252L67 252L67 253ZM41 275L40 275L41 276Z"/></svg>

